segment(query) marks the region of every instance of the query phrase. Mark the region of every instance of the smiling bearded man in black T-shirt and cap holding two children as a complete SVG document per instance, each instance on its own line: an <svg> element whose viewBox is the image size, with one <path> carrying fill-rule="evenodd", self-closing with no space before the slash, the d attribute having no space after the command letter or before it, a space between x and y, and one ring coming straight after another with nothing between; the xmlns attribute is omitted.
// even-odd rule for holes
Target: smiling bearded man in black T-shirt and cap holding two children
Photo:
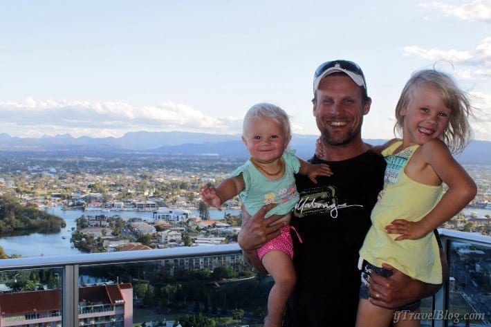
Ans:
<svg viewBox="0 0 491 327"><path fill-rule="evenodd" d="M358 250L369 229L385 171L385 160L362 141L363 116L370 106L367 84L357 64L336 60L317 68L313 115L325 154L324 158L314 156L312 163L327 163L333 176L317 177L317 184L303 176L296 178L300 201L291 224L303 243L294 244L297 284L285 315L286 326L355 325ZM269 225L275 218L263 218L270 208L265 206L244 219L239 234L244 255L261 271L256 249L277 236L282 227ZM432 295L440 287L393 272L389 278L373 274L370 294L374 304L395 308Z"/></svg>

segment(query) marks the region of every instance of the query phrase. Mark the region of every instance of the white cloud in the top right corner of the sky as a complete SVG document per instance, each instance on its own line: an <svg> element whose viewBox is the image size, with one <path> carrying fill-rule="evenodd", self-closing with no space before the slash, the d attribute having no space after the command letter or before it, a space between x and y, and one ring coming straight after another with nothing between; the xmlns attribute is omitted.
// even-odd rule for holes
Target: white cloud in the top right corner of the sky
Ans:
<svg viewBox="0 0 491 327"><path fill-rule="evenodd" d="M457 17L467 21L485 21L491 23L491 0L474 0L461 6L453 6L440 1L421 3L422 7L440 9L446 16Z"/></svg>

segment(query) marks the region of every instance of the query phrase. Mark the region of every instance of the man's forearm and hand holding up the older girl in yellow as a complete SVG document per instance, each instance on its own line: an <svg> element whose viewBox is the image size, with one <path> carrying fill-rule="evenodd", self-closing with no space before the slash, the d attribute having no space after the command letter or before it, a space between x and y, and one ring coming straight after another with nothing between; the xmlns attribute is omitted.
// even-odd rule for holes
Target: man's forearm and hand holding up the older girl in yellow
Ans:
<svg viewBox="0 0 491 327"><path fill-rule="evenodd" d="M442 280L445 283L449 277L449 269L445 252L440 247L440 260L442 264ZM442 284L429 284L403 274L391 265L382 263L382 267L392 270L393 275L389 278L382 277L376 273L370 276L370 301L376 306L383 308L398 308L418 299L434 295L442 287Z"/></svg>

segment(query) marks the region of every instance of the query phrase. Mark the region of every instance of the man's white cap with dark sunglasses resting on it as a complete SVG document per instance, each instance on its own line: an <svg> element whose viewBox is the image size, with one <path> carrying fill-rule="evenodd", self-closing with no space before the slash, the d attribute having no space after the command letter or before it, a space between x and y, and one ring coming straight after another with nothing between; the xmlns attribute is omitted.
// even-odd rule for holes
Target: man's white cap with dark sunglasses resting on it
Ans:
<svg viewBox="0 0 491 327"><path fill-rule="evenodd" d="M322 78L332 73L344 73L348 75L356 85L363 88L364 95L367 96L367 82L365 82L362 68L349 60L333 60L332 62L324 62L324 64L321 64L315 70L314 92L319 87Z"/></svg>

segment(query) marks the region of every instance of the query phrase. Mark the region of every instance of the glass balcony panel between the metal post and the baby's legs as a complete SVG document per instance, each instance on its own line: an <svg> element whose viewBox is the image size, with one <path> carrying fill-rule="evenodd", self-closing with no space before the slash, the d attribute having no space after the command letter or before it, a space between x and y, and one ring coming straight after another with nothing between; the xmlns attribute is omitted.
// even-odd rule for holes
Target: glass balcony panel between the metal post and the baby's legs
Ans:
<svg viewBox="0 0 491 327"><path fill-rule="evenodd" d="M192 319L262 326L272 287L272 279L255 274L240 252L80 265L78 282L79 321L93 325L98 317L114 326Z"/></svg>

